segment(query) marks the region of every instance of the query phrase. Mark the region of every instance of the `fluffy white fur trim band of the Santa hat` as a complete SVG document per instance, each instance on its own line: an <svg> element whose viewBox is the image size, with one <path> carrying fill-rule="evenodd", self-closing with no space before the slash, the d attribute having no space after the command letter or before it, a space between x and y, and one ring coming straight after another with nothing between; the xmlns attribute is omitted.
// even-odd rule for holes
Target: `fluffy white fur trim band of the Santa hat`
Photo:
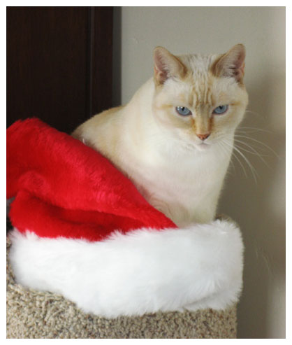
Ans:
<svg viewBox="0 0 292 345"><path fill-rule="evenodd" d="M242 288L240 230L226 220L163 231L115 232L105 241L10 235L17 283L60 293L105 317L225 309Z"/></svg>

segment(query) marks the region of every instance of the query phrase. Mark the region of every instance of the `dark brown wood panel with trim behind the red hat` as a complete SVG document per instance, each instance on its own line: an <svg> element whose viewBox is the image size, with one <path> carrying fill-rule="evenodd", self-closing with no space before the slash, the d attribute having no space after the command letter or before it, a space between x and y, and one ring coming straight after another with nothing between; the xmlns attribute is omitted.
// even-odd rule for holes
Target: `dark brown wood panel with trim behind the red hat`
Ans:
<svg viewBox="0 0 292 345"><path fill-rule="evenodd" d="M7 125L64 132L111 106L112 8L7 8ZM108 71L107 71L108 70Z"/></svg>

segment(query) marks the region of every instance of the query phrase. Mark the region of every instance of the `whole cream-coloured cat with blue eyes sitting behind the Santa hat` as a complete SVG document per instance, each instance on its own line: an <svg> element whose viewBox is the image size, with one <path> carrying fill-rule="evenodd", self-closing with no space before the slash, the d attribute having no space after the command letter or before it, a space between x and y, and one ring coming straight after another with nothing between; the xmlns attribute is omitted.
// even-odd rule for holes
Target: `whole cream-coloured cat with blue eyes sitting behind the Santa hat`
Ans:
<svg viewBox="0 0 292 345"><path fill-rule="evenodd" d="M73 137L107 157L179 226L214 219L235 129L248 103L244 45L225 54L154 49L154 76L131 101L84 122Z"/></svg>

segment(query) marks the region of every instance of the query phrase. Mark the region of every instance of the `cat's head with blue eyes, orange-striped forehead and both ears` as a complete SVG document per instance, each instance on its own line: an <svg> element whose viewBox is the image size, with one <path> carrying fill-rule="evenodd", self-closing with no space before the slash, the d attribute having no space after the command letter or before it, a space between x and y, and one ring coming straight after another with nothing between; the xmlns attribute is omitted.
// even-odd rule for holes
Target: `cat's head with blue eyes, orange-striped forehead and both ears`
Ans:
<svg viewBox="0 0 292 345"><path fill-rule="evenodd" d="M208 56L155 48L153 111L159 124L198 150L232 137L248 102L244 57L242 44Z"/></svg>

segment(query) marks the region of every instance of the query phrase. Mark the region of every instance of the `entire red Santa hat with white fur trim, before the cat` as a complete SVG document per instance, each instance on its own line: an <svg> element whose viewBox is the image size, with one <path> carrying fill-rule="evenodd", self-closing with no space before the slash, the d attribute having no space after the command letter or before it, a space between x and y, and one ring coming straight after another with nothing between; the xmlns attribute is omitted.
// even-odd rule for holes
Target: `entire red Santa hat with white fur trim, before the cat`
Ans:
<svg viewBox="0 0 292 345"><path fill-rule="evenodd" d="M109 160L41 120L7 130L7 197L17 283L107 317L238 301L234 223L178 228Z"/></svg>

